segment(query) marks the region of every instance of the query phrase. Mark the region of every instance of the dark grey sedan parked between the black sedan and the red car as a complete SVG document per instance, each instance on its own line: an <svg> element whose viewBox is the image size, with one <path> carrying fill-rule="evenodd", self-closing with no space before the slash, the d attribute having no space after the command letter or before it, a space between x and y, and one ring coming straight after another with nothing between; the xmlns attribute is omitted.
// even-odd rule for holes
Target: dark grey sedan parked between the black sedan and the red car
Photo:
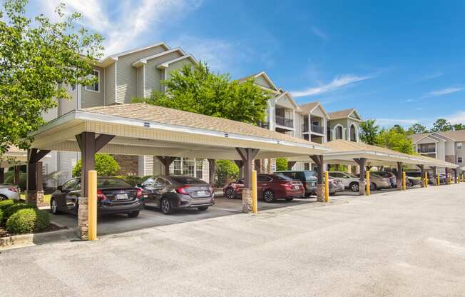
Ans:
<svg viewBox="0 0 465 297"><path fill-rule="evenodd" d="M140 188L148 193L147 206L155 206L165 214L181 208L206 211L215 204L213 186L192 176L154 176L147 178Z"/></svg>

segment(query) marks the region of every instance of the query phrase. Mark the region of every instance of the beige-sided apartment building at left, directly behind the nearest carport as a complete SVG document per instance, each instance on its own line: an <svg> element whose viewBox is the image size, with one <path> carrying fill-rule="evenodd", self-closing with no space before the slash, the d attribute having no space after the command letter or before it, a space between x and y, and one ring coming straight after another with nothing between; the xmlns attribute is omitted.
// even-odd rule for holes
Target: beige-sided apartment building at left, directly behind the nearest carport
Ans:
<svg viewBox="0 0 465 297"><path fill-rule="evenodd" d="M185 64L197 64L196 59L183 49L171 49L165 43L114 54L98 61L93 76L98 82L93 86L64 86L70 100L59 100L56 109L44 115L46 121L74 109L93 106L131 103L134 97L148 97L153 91L165 91L161 81L170 72ZM145 176L163 173L163 165L153 156L114 156L121 166L121 174ZM44 173L59 173L58 183L71 178L73 166L80 158L75 152L53 152L44 161ZM178 158L171 165L172 173L186 173L208 180L208 161L195 158Z"/></svg>

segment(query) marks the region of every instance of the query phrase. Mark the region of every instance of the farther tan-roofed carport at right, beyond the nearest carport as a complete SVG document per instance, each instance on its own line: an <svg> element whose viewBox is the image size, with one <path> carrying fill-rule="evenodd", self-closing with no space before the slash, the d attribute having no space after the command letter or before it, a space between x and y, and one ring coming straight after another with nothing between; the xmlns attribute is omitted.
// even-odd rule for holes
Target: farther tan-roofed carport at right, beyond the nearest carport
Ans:
<svg viewBox="0 0 465 297"><path fill-rule="evenodd" d="M393 166L397 168L397 180L402 180L402 166L404 164L412 164L414 166L424 166L428 164L424 158L418 156L408 155L407 153L399 153L389 148L380 146L372 146L362 142L346 141L337 139L325 143L331 150L323 153L324 164L341 164L341 165L355 165L359 166L360 179L359 179L359 195L365 195L366 181L365 174L367 168L372 166ZM292 161L305 161L302 158L292 158ZM315 160L314 160L315 161ZM320 162L317 166L321 168ZM402 183L397 183L398 188L402 188Z"/></svg>

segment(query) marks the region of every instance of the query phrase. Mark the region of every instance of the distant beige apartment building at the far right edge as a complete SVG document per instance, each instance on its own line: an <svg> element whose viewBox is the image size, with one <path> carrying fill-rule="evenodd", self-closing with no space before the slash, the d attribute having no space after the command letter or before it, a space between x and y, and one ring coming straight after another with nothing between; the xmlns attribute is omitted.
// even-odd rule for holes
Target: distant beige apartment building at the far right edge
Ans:
<svg viewBox="0 0 465 297"><path fill-rule="evenodd" d="M422 156L455 163L465 171L465 130L415 134L414 149ZM444 172L444 169L439 169Z"/></svg>

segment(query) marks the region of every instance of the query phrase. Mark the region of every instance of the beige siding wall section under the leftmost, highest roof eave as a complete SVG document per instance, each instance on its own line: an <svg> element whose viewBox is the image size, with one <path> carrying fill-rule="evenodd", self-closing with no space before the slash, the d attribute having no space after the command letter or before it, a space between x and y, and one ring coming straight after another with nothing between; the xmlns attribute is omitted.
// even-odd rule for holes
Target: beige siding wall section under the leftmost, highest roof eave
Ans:
<svg viewBox="0 0 465 297"><path fill-rule="evenodd" d="M155 46L133 54L118 57L116 67L116 103L131 103L133 97L137 96L137 69L132 64L138 59L158 54L165 51L163 46Z"/></svg>

